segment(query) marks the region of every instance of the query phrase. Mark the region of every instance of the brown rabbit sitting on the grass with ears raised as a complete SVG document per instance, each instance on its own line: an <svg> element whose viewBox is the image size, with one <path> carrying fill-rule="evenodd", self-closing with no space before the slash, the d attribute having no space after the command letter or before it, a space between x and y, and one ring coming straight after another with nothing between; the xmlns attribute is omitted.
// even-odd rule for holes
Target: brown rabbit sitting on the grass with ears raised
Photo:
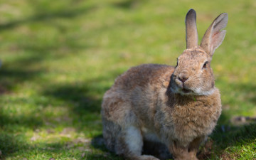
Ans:
<svg viewBox="0 0 256 160"><path fill-rule="evenodd" d="M200 46L196 11L188 11L185 23L186 50L176 67L130 68L105 92L101 110L105 145L124 159L157 159L142 155L144 140L165 144L174 159L197 159L199 146L220 117L220 92L210 62L225 37L228 14L215 18Z"/></svg>

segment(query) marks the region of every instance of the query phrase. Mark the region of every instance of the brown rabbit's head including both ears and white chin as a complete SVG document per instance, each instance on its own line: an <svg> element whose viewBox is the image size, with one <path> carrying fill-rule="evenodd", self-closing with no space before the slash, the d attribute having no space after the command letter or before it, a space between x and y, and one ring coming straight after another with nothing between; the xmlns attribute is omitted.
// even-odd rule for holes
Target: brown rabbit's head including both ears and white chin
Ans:
<svg viewBox="0 0 256 160"><path fill-rule="evenodd" d="M177 65L171 75L171 91L181 95L210 95L214 92L213 70L210 68L214 50L220 46L227 26L228 14L220 14L203 36L198 46L196 11L186 15L187 49L177 58Z"/></svg>

